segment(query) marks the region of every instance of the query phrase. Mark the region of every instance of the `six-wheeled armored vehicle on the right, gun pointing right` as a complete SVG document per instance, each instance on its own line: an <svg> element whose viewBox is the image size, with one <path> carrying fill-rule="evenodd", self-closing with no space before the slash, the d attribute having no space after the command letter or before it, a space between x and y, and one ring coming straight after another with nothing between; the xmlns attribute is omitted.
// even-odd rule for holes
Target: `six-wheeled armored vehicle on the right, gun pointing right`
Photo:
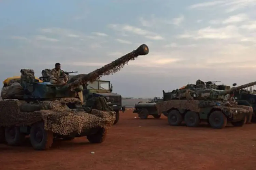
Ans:
<svg viewBox="0 0 256 170"><path fill-rule="evenodd" d="M199 126L200 121L207 121L212 128L222 129L227 122L242 126L247 117L251 117L250 106L238 105L237 102L224 98L232 92L255 85L256 82L241 85L230 90L202 89L189 84L186 88L172 92L163 90L163 102L156 103L158 113L168 115L170 125L181 125L183 120L190 127ZM249 116L248 116L249 115Z"/></svg>

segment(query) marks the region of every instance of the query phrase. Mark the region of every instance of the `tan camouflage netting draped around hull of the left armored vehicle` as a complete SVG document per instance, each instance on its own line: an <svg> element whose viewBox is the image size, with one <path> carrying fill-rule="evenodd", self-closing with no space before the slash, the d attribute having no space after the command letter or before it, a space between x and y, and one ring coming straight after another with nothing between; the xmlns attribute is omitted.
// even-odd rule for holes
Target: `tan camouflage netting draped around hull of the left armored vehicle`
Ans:
<svg viewBox="0 0 256 170"><path fill-rule="evenodd" d="M0 126L32 125L42 120L45 130L59 135L81 134L83 130L91 128L110 127L114 123L115 112L95 108L90 113L76 111L58 100L40 101L37 104L18 100L0 101Z"/></svg>

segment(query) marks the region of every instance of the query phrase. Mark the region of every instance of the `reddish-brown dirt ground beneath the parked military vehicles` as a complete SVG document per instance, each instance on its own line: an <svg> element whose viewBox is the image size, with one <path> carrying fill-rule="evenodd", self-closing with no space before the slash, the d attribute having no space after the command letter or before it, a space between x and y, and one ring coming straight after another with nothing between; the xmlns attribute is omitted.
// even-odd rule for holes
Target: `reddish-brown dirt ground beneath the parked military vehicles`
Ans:
<svg viewBox="0 0 256 170"><path fill-rule="evenodd" d="M1 170L255 170L256 124L215 130L169 126L160 119L120 113L101 144L85 137L57 141L47 151L0 145ZM95 152L91 154L91 152Z"/></svg>

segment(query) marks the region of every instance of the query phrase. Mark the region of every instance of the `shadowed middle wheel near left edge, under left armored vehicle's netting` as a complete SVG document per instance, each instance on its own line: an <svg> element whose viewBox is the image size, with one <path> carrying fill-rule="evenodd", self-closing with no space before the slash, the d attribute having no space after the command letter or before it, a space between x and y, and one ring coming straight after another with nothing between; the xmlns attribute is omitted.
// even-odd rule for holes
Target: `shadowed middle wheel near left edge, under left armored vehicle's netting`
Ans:
<svg viewBox="0 0 256 170"><path fill-rule="evenodd" d="M25 139L25 134L19 131L18 126L4 128L5 140L10 146L19 146Z"/></svg>

